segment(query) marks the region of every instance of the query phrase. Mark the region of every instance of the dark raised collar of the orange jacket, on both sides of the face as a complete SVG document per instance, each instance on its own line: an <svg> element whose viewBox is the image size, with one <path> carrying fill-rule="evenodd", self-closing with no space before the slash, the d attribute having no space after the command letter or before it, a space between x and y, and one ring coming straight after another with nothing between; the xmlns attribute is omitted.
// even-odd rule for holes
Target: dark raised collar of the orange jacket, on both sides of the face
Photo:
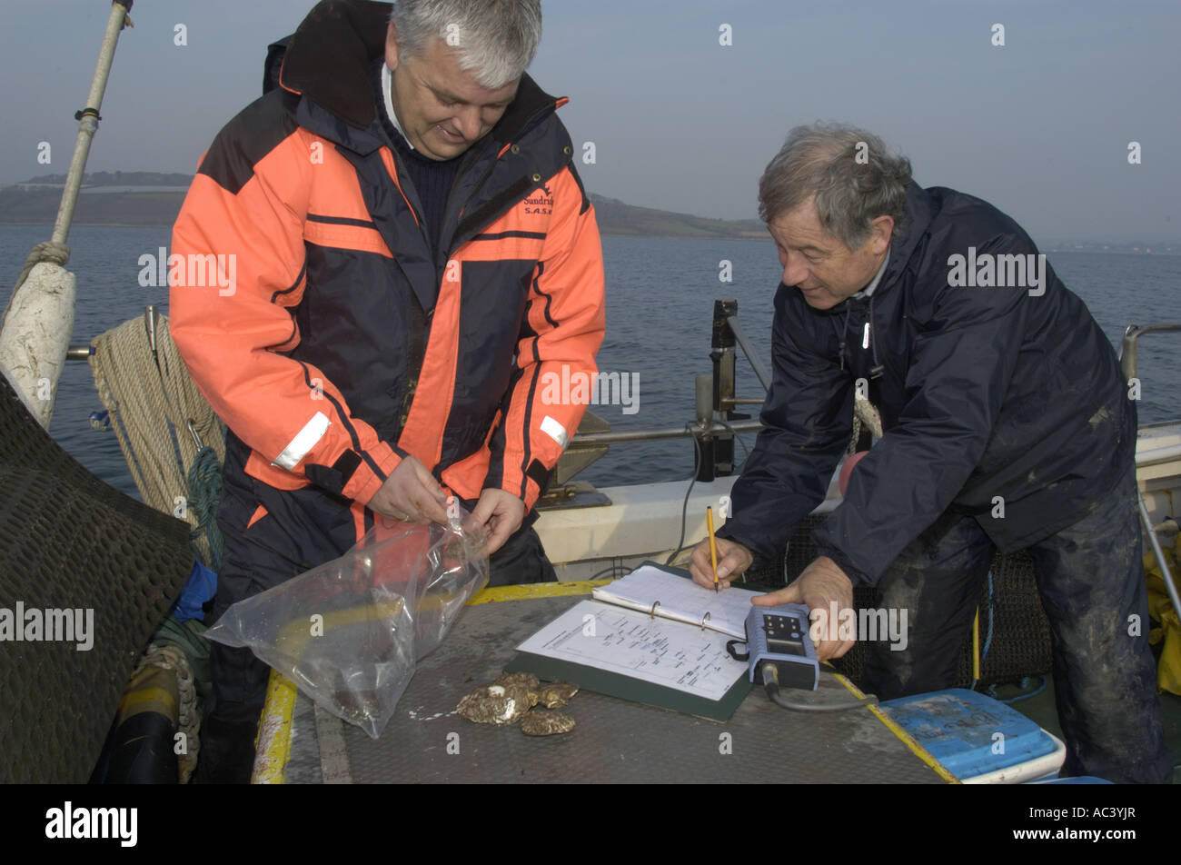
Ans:
<svg viewBox="0 0 1181 865"><path fill-rule="evenodd" d="M385 57L392 4L324 0L300 22L283 58L280 84L358 130L378 122L370 69ZM566 103L522 73L516 97L489 137L507 143Z"/></svg>

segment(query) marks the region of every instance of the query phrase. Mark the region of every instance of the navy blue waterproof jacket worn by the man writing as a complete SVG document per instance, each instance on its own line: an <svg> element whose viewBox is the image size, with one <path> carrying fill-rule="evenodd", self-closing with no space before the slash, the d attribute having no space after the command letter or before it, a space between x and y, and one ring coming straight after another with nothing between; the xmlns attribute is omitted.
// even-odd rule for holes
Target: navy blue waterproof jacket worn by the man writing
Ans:
<svg viewBox="0 0 1181 865"><path fill-rule="evenodd" d="M814 310L781 284L765 429L718 534L757 564L782 553L852 437L857 379L885 435L813 533L855 584L876 584L948 510L973 516L1003 552L1084 516L1135 454L1135 405L1110 343L1048 262L1043 291L953 285L968 265L973 281L997 282L998 262L999 281L1016 281L1016 260L990 256L1033 255L1029 264L1037 252L987 202L912 183L870 298Z"/></svg>

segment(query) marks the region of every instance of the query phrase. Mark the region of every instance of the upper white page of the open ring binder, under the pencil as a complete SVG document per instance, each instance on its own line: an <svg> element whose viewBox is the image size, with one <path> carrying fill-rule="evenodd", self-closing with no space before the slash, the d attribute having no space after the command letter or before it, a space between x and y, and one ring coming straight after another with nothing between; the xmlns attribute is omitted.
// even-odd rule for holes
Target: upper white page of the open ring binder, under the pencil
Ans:
<svg viewBox="0 0 1181 865"><path fill-rule="evenodd" d="M652 565L642 565L627 577L590 592L595 600L707 627L738 639L746 637L750 599L757 594L735 586L715 592Z"/></svg>

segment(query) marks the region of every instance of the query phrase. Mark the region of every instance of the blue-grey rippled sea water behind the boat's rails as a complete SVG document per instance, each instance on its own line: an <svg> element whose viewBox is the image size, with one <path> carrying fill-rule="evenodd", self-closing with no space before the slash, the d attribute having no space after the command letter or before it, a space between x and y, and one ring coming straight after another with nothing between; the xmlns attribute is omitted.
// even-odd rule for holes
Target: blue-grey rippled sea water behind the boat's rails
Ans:
<svg viewBox="0 0 1181 865"><path fill-rule="evenodd" d="M0 227L0 290L7 303L25 256L47 239L48 226ZM78 226L70 233L67 268L78 277L72 344L89 343L129 318L143 318L155 304L168 313L168 290L142 286L139 258L170 241L168 228ZM1048 252L1066 287L1088 305L1118 351L1128 324L1181 319L1181 256ZM613 430L683 425L694 417L697 375L709 375L716 299L736 299L738 318L763 365L770 369L771 316L781 268L769 240L605 238L607 334L599 352L603 394L594 407ZM737 392L762 397L744 358L738 359ZM1181 417L1177 370L1181 334L1149 334L1140 344L1143 383L1140 422ZM612 399L611 382L627 382L627 399ZM757 407L744 407L755 414ZM138 497L115 434L91 428L100 411L90 365L67 362L58 390L51 435L76 460L111 486ZM753 447L745 434L736 447ZM615 444L579 475L596 486L687 480L693 471L689 438Z"/></svg>

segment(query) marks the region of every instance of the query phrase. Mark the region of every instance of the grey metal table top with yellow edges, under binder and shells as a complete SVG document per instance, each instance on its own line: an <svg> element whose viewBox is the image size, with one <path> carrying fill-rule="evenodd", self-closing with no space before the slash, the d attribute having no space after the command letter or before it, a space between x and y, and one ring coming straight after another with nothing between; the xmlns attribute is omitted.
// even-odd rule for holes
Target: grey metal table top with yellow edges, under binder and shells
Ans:
<svg viewBox="0 0 1181 865"><path fill-rule="evenodd" d="M485 590L418 664L380 739L340 721L273 675L260 722L256 782L777 782L938 783L950 773L877 709L811 714L753 689L726 723L580 691L570 733L459 717L459 698L491 682L514 648L593 584ZM598 584L594 584L598 585ZM496 603L489 603L496 601ZM852 687L852 685L850 685ZM795 692L803 694L803 692ZM817 700L850 696L821 677Z"/></svg>

